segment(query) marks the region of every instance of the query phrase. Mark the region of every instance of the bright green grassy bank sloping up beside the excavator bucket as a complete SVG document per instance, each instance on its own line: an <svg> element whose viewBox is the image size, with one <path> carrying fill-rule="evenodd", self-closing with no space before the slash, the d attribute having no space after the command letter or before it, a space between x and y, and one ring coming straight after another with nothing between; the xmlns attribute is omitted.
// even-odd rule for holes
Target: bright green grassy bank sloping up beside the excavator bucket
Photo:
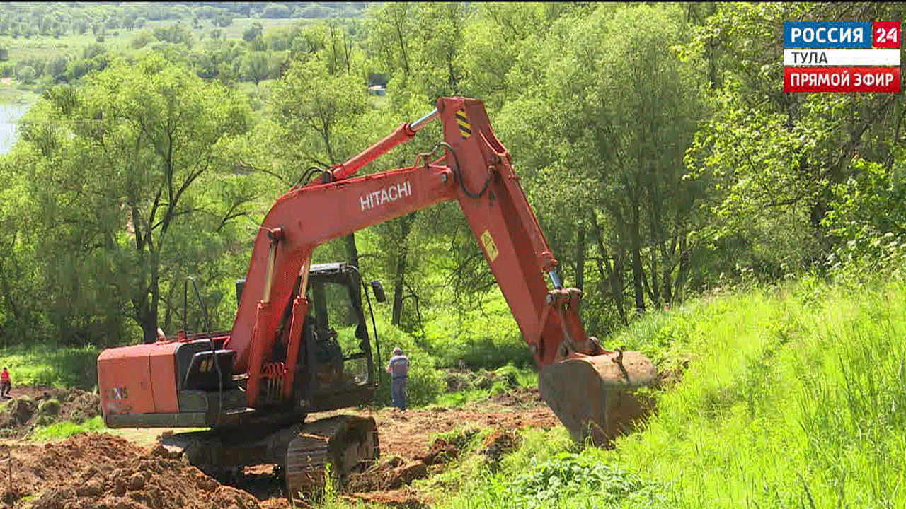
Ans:
<svg viewBox="0 0 906 509"><path fill-rule="evenodd" d="M688 362L612 451L532 430L442 507L902 507L906 285L811 279L687 303L614 344ZM574 452L575 454L571 454Z"/></svg>

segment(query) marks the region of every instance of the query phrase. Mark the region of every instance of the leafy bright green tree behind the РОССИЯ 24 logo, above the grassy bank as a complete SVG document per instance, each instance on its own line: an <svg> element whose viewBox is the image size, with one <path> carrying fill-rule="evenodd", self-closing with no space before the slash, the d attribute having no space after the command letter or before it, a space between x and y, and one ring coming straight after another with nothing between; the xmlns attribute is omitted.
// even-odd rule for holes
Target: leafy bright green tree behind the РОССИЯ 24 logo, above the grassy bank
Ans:
<svg viewBox="0 0 906 509"><path fill-rule="evenodd" d="M711 236L753 245L757 272L822 270L834 251L824 224L834 189L859 158L892 168L901 153L902 98L887 94L788 94L783 24L791 19L899 19L900 4L717 4L703 9L690 53L708 61L716 115L689 154L689 174L718 196ZM861 19L861 18L860 18ZM729 267L732 269L732 267ZM717 270L717 268L716 268Z"/></svg>

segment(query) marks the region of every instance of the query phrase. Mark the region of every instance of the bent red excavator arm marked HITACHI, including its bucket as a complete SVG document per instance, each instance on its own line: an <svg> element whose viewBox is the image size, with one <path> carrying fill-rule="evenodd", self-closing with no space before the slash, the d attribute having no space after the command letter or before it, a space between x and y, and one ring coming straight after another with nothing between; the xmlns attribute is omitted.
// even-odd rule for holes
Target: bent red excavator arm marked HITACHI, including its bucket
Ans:
<svg viewBox="0 0 906 509"><path fill-rule="evenodd" d="M410 168L356 177L359 169L439 119L443 156L421 154ZM582 292L564 288L557 261L525 199L512 158L496 139L481 101L439 98L436 110L403 124L385 139L321 178L280 197L256 238L246 287L224 348L236 351L234 372L246 371L247 405L265 397L289 398L302 326L308 309L305 277L313 249L367 226L456 200L485 255L528 348L541 369L539 389L576 439L612 438L626 416L641 413L631 392L655 380L651 362L637 352L605 351L589 337L579 315ZM548 287L547 280L551 287ZM293 302L283 362L273 350L284 303ZM278 392L279 394L269 394ZM639 408L636 408L639 407Z"/></svg>

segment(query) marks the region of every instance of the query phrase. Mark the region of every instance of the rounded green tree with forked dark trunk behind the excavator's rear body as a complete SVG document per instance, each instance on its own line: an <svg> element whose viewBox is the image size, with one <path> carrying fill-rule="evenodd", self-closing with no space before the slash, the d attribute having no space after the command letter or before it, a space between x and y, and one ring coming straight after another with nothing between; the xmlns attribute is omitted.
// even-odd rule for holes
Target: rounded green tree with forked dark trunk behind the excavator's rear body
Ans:
<svg viewBox="0 0 906 509"><path fill-rule="evenodd" d="M53 242L91 246L91 256L62 256L52 268L91 264L100 271L97 291L128 303L144 341L155 341L164 292L186 274L183 256L201 221L228 223L250 199L237 193L232 199L240 203L220 207L210 198L233 168L226 154L248 129L247 105L153 54L115 62L82 88L43 101L47 115L72 127L25 137L43 155L28 168L43 182L34 193L48 219L55 217L46 226L59 234ZM217 212L223 209L232 212Z"/></svg>

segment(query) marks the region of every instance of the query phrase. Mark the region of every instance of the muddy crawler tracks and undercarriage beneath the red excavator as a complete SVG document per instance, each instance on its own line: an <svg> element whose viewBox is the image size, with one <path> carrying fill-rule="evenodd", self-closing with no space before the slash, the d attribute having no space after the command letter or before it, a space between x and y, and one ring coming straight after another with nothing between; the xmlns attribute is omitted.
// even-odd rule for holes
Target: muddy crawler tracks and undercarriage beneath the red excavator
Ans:
<svg viewBox="0 0 906 509"><path fill-rule="evenodd" d="M324 490L327 465L335 487L381 455L374 418L340 415L282 427L259 437L215 430L161 437L160 445L182 454L208 475L236 475L243 466L283 468L287 495L313 499Z"/></svg>

